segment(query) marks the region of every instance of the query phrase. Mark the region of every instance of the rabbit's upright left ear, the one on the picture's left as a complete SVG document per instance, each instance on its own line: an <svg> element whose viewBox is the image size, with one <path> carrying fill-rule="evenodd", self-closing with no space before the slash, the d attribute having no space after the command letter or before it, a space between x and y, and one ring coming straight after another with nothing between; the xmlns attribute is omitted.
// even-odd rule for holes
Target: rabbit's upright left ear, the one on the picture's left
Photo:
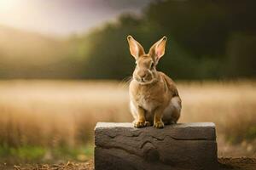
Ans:
<svg viewBox="0 0 256 170"><path fill-rule="evenodd" d="M135 59L137 59L139 56L145 54L143 46L139 42L137 42L133 37L128 36L127 41L129 43L129 46L130 46L131 55Z"/></svg>

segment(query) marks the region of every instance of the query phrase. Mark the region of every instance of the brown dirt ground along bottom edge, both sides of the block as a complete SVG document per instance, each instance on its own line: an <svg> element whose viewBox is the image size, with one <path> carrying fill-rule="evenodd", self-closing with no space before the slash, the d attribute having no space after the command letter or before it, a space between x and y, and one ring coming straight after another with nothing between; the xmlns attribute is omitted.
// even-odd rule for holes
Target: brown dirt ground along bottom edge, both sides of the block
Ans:
<svg viewBox="0 0 256 170"><path fill-rule="evenodd" d="M256 158L218 158L220 163L219 170L256 170ZM0 164L0 170L93 170L93 161L77 163L68 161L59 164L26 164L10 166Z"/></svg>

